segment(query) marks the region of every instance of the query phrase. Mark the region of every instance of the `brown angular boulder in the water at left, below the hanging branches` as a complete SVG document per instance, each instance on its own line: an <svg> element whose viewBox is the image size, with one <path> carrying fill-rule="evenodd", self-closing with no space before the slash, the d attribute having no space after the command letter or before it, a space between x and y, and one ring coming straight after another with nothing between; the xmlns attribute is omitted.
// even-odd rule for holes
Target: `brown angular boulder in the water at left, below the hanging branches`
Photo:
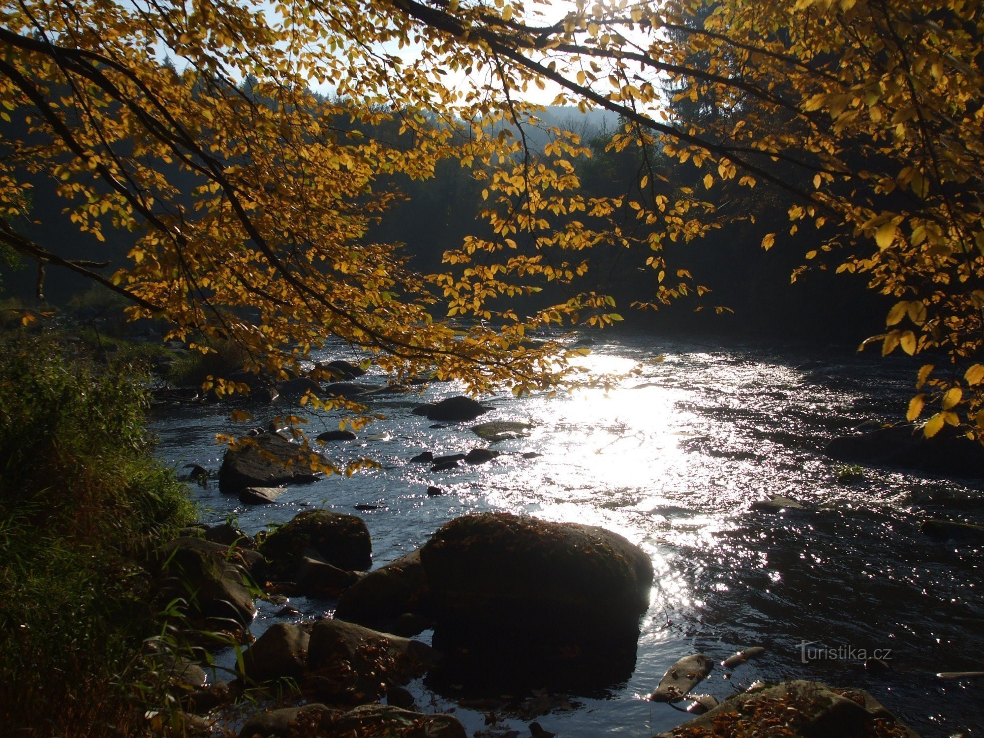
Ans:
<svg viewBox="0 0 984 738"><path fill-rule="evenodd" d="M277 433L239 439L241 448L225 452L218 469L218 488L239 492L245 487L279 487L319 478L305 464L304 451Z"/></svg>

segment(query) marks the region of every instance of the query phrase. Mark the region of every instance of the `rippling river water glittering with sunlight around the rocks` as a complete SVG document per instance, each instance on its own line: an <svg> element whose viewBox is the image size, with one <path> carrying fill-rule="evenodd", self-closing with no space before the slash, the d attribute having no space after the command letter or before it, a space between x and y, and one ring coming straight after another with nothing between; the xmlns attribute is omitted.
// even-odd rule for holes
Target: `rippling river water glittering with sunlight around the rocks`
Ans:
<svg viewBox="0 0 984 738"><path fill-rule="evenodd" d="M492 728L483 711L461 707L453 694L410 685L419 706L454 709L469 735L516 729L525 736L536 719L561 738L650 736L689 717L645 700L674 661L700 651L719 662L747 646L768 653L731 675L715 667L697 692L723 700L756 680L818 679L869 690L926 736L984 732L981 682L935 676L984 668L984 550L938 543L918 530L928 517L984 522L982 485L891 469L865 469L845 484L837 480L839 464L821 451L864 420L900 419L914 368L816 349L605 338L594 338L586 366L639 367L617 389L483 399L493 410L476 422L533 424L527 437L495 444L504 453L494 461L446 472L408 462L425 450L439 456L487 446L472 423L431 428L410 412L460 394L453 384L434 384L372 400L372 411L387 419L359 435L383 437L329 449L338 462L368 457L382 469L298 485L277 504L258 507L222 495L213 482L196 493L203 520L234 516L255 533L309 506L358 514L372 534L375 566L422 545L441 524L487 510L602 525L642 546L656 574L631 678L586 694L520 696L534 699L504 710ZM340 347L325 356L353 359ZM383 379L370 371L360 381ZM287 409L264 408L256 419ZM311 419L311 435L338 427L338 415L301 414ZM217 470L215 434L237 428L228 408L217 406L154 420L158 453L178 467ZM525 459L527 452L542 456ZM445 494L428 496L429 485ZM750 510L776 494L820 509ZM355 505L379 507L359 513ZM334 606L291 603L302 612L294 622ZM277 622L279 609L258 605L255 635ZM891 665L887 672L865 671L864 656L875 649ZM218 654L218 662L231 665L232 655Z"/></svg>

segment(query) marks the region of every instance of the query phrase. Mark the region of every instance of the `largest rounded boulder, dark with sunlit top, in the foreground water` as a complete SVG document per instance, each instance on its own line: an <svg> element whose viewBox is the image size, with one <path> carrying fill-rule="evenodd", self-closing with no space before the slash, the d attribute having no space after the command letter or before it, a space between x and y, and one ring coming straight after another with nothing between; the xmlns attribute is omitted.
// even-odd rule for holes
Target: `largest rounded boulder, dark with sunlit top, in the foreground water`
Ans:
<svg viewBox="0 0 984 738"><path fill-rule="evenodd" d="M621 640L638 636L649 605L649 557L593 525L468 515L441 527L420 561L444 630Z"/></svg>

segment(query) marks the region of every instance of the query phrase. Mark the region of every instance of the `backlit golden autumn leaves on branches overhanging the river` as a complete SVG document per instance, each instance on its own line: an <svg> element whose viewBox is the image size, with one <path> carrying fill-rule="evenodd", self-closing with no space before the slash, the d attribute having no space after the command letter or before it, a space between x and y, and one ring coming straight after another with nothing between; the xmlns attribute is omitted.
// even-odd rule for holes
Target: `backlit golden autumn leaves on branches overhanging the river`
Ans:
<svg viewBox="0 0 984 738"><path fill-rule="evenodd" d="M30 132L0 158L0 238L102 278L11 225L23 173L54 177L80 229L137 234L131 264L102 280L135 317L172 320L174 337L236 338L277 369L334 335L404 378L436 365L476 392L554 386L567 358L524 335L610 324L614 300L585 292L521 318L499 298L575 282L586 264L571 255L599 244L646 249L647 306L706 291L662 244L709 232L714 207L655 189L658 148L702 170L706 190L784 193L791 233L810 221L826 234L811 265L835 258L896 298L883 353L969 365L981 351L979 0L24 0L2 13L0 117ZM678 101L721 114L676 116L667 79ZM643 153L637 189L587 198L578 136L554 130L533 152L522 125L501 125L535 125L524 99L547 84L558 104L622 115L610 146ZM396 197L388 177L425 179L447 158L482 183L491 235L421 276L366 234ZM462 317L463 331L447 320ZM975 432L984 385L971 370L920 371L923 401L941 408L927 432L954 418Z"/></svg>

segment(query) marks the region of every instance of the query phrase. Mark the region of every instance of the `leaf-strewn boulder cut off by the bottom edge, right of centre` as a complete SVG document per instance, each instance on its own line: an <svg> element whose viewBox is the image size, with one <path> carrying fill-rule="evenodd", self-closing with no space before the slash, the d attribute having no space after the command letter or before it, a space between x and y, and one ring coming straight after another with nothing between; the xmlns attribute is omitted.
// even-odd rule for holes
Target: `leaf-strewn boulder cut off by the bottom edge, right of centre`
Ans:
<svg viewBox="0 0 984 738"><path fill-rule="evenodd" d="M732 695L658 738L919 738L863 690L796 680Z"/></svg>

